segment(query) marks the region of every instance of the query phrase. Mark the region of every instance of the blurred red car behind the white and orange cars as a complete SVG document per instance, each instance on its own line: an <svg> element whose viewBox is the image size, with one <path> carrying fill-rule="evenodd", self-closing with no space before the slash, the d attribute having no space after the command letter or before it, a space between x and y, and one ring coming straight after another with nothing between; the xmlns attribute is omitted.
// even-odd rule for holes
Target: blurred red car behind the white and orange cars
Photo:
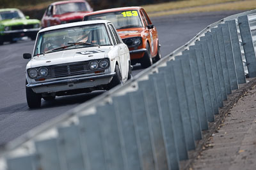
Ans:
<svg viewBox="0 0 256 170"><path fill-rule="evenodd" d="M85 13L92 11L90 4L84 0L58 1L48 6L41 21L42 27L79 22Z"/></svg>

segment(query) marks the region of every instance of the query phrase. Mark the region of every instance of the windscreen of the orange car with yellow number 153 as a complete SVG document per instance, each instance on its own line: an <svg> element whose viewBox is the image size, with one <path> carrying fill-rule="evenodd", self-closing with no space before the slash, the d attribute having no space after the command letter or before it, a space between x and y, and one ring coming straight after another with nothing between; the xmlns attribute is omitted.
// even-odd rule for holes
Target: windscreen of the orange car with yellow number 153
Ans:
<svg viewBox="0 0 256 170"><path fill-rule="evenodd" d="M143 27L137 10L89 15L84 17L84 20L109 20L115 25L116 29Z"/></svg>

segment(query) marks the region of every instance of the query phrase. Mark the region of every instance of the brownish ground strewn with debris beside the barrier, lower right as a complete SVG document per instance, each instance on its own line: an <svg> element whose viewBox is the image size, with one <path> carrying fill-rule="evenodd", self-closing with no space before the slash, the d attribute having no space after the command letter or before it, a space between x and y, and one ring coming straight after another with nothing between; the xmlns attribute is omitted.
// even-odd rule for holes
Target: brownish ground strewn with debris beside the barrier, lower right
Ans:
<svg viewBox="0 0 256 170"><path fill-rule="evenodd" d="M250 85L252 87L248 90ZM218 115L222 118L219 123L216 122L212 135L207 138L204 145L201 145L201 150L198 150L190 169L255 169L255 85L256 79L253 79L250 84L240 89L242 91L234 91L232 95L242 93L239 101L229 111ZM235 99L230 96L228 100Z"/></svg>

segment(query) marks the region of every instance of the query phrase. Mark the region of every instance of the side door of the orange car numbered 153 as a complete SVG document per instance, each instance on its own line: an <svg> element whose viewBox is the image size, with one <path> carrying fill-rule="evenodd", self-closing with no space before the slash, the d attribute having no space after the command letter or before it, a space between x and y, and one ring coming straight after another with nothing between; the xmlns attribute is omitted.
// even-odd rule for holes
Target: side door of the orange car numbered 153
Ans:
<svg viewBox="0 0 256 170"><path fill-rule="evenodd" d="M147 25L151 25L152 22L149 19L147 13L145 10L141 9L141 13L143 14L143 18L145 18L145 22ZM148 29L148 28L147 28ZM151 55L155 56L157 53L157 32L156 32L156 27L153 27L152 29L148 29L148 33L150 35L150 50L151 50Z"/></svg>

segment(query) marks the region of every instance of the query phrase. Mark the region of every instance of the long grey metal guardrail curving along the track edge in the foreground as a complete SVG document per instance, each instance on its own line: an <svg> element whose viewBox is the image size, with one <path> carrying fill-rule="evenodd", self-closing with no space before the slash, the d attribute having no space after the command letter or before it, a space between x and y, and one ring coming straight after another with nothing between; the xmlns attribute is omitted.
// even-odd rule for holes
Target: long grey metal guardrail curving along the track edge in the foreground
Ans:
<svg viewBox="0 0 256 170"><path fill-rule="evenodd" d="M246 83L244 66L256 76L255 36L255 10L209 25L122 87L2 146L0 169L179 169Z"/></svg>

